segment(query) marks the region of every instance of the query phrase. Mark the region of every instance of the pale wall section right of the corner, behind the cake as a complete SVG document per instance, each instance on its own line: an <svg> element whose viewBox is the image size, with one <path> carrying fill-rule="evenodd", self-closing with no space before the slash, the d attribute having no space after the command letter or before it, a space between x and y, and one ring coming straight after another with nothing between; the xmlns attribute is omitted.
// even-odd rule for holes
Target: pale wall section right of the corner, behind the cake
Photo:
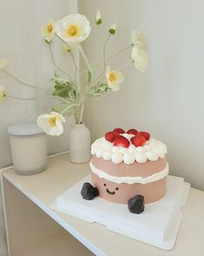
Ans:
<svg viewBox="0 0 204 256"><path fill-rule="evenodd" d="M117 93L91 99L86 125L92 140L112 128L138 128L168 146L170 174L185 177L204 189L204 33L201 0L80 0L80 11L94 26L97 10L104 20L102 34L118 23L108 50L112 55L130 43L131 29L142 30L150 58L141 74L124 69L125 81ZM85 43L92 62L97 56L96 29ZM106 34L105 34L106 35ZM130 60L131 50L111 62L112 68Z"/></svg>

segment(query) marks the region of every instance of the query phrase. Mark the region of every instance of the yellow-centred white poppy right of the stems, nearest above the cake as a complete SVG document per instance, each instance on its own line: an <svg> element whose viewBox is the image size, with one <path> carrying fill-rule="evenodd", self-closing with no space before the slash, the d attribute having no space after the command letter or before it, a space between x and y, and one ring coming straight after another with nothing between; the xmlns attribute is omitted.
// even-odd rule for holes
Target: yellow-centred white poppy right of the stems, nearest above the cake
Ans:
<svg viewBox="0 0 204 256"><path fill-rule="evenodd" d="M105 77L108 86L113 91L117 91L119 89L119 84L124 82L124 75L118 70L111 70L110 66L106 68Z"/></svg>

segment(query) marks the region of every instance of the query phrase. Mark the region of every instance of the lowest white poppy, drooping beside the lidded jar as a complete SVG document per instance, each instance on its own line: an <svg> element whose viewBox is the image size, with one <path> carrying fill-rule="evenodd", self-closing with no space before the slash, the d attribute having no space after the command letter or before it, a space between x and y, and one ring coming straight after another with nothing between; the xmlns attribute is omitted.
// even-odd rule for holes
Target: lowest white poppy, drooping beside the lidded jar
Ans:
<svg viewBox="0 0 204 256"><path fill-rule="evenodd" d="M37 125L42 128L42 130L47 135L61 135L63 133L62 122L65 122L65 118L57 113L51 112L50 114L43 114L38 116Z"/></svg>

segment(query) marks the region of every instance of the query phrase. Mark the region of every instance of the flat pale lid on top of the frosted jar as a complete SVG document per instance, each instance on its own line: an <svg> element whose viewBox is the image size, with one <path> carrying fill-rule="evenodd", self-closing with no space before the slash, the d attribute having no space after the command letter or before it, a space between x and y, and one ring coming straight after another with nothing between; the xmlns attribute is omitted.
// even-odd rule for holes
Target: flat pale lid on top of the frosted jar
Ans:
<svg viewBox="0 0 204 256"><path fill-rule="evenodd" d="M42 129L36 123L22 123L8 128L9 135L40 135Z"/></svg>

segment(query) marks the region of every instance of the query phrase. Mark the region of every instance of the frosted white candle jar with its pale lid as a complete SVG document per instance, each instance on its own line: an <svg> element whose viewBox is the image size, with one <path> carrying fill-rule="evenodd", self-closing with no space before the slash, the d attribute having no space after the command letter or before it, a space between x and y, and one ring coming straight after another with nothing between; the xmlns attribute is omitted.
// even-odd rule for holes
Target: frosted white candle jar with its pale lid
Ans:
<svg viewBox="0 0 204 256"><path fill-rule="evenodd" d="M47 166L46 135L34 123L8 128L14 169L17 174L37 174Z"/></svg>

